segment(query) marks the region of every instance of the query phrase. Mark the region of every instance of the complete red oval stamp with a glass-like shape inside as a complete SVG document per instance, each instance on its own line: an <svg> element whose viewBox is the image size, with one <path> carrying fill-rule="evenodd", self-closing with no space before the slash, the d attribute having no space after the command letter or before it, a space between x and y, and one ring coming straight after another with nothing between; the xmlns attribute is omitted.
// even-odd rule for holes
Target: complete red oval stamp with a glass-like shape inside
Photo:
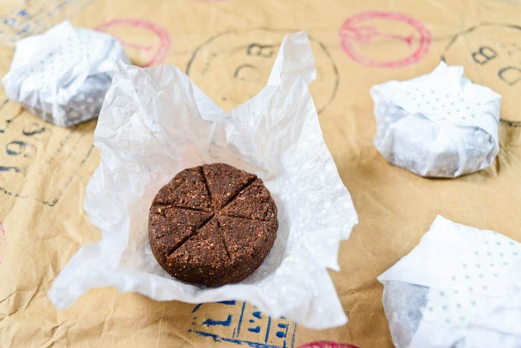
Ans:
<svg viewBox="0 0 521 348"><path fill-rule="evenodd" d="M424 58L431 32L407 14L365 11L342 23L340 45L355 62L367 67L401 68Z"/></svg>

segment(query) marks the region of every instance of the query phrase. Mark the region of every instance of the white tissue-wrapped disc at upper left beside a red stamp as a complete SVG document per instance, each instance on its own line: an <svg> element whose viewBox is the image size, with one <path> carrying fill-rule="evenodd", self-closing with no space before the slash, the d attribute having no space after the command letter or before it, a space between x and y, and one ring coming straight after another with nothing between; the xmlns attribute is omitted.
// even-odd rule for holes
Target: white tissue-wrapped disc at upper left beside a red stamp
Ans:
<svg viewBox="0 0 521 348"><path fill-rule="evenodd" d="M71 126L97 117L117 59L129 62L118 40L65 21L19 40L2 84L11 100L35 115Z"/></svg>

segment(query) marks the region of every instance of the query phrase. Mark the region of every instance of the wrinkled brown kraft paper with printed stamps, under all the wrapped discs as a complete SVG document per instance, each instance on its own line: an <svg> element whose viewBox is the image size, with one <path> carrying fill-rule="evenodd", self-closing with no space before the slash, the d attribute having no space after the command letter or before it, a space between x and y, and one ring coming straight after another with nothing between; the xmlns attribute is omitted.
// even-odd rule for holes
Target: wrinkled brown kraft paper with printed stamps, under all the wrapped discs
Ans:
<svg viewBox="0 0 521 348"><path fill-rule="evenodd" d="M330 272L350 320L337 329L295 327L241 302L195 308L110 288L90 291L57 312L47 299L51 281L80 246L100 237L82 208L84 187L99 163L92 148L95 121L51 126L6 102L2 89L1 347L298 347L317 340L387 347L376 276L411 251L438 213L521 240L518 0L8 0L0 15L2 76L12 40L69 17L75 26L118 36L135 64L178 65L228 110L265 84L282 36L307 30L317 61L311 91L320 124L360 220L341 244L341 271ZM342 46L339 30L350 18ZM487 170L433 180L393 167L376 152L369 88L431 71L442 56L503 96L500 153Z"/></svg>

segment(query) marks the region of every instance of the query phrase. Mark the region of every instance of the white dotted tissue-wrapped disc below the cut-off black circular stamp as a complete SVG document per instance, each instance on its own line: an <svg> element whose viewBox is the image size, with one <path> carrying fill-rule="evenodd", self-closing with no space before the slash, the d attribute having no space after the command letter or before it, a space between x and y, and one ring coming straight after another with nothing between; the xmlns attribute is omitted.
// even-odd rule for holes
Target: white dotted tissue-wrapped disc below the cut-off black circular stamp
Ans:
<svg viewBox="0 0 521 348"><path fill-rule="evenodd" d="M501 96L440 62L407 81L373 86L374 144L387 161L421 176L453 178L488 167L499 151Z"/></svg>

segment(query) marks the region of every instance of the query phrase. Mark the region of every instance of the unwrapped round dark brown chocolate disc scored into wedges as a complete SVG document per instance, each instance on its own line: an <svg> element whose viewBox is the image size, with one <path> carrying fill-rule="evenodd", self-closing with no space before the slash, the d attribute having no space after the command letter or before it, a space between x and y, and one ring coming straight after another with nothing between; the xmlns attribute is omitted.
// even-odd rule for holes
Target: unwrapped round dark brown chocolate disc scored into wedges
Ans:
<svg viewBox="0 0 521 348"><path fill-rule="evenodd" d="M263 263L278 229L263 181L223 163L183 170L163 186L149 212L158 263L189 283L221 286Z"/></svg>

